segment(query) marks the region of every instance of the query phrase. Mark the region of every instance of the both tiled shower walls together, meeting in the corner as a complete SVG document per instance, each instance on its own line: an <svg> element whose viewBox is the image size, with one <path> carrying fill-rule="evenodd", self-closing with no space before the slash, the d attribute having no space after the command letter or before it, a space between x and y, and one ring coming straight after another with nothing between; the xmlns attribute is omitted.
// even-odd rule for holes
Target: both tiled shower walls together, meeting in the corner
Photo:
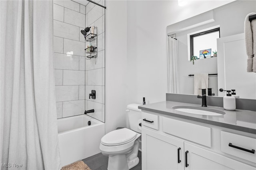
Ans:
<svg viewBox="0 0 256 170"><path fill-rule="evenodd" d="M102 4L102 2L98 3ZM84 110L94 109L95 113L89 115L103 122L105 120L105 12L103 10L104 8L92 3L84 6L71 0L54 1L57 118L84 114ZM97 27L98 57L86 60L84 48L87 42L84 41L80 30L91 25ZM91 90L96 90L95 100L89 99Z"/></svg>

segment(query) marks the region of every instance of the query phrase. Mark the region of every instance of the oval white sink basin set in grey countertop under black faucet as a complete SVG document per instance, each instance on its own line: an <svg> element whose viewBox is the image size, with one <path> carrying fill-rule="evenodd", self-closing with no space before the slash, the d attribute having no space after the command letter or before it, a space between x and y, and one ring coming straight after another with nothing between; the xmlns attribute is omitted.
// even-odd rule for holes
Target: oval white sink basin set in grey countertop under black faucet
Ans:
<svg viewBox="0 0 256 170"><path fill-rule="evenodd" d="M173 106L174 110L192 114L201 114L201 115L208 115L208 116L222 116L225 112L221 110L216 110L207 107L198 107L198 106Z"/></svg>

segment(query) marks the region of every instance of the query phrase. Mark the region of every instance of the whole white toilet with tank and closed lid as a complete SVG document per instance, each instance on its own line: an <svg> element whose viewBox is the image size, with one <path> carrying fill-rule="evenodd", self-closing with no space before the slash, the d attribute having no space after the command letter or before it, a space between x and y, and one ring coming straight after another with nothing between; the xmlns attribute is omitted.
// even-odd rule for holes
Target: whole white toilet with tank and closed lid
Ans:
<svg viewBox="0 0 256 170"><path fill-rule="evenodd" d="M121 128L101 138L100 150L108 156L108 170L129 170L139 163L139 137L141 136L141 104L129 104L126 112L130 129Z"/></svg>

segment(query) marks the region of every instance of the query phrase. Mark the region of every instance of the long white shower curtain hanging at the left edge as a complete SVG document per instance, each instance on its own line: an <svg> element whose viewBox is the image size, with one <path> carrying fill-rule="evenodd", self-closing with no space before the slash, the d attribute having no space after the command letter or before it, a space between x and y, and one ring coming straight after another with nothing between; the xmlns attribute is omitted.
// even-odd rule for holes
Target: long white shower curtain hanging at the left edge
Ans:
<svg viewBox="0 0 256 170"><path fill-rule="evenodd" d="M60 169L52 13L52 0L0 0L4 170Z"/></svg>

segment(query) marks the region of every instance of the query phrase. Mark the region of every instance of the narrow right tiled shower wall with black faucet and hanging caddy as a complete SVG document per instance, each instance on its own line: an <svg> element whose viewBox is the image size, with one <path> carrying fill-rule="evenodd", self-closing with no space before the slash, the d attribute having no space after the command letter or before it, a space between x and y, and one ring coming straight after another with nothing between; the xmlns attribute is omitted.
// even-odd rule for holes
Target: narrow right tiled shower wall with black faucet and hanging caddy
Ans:
<svg viewBox="0 0 256 170"><path fill-rule="evenodd" d="M105 5L102 0L97 3ZM105 122L105 9L92 3L86 5L86 27L90 26L97 27L98 56L85 62L85 109L94 109L88 115ZM92 90L96 90L96 99L89 99Z"/></svg>

